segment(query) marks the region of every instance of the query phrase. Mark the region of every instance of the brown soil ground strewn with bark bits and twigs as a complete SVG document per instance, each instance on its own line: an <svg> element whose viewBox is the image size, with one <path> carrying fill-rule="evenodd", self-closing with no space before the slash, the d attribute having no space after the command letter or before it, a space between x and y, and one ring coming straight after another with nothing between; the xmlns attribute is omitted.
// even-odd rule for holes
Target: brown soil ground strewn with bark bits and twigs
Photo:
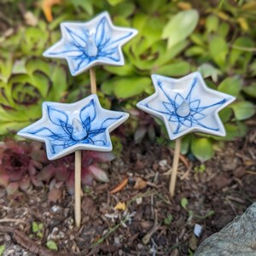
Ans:
<svg viewBox="0 0 256 256"><path fill-rule="evenodd" d="M3 255L51 255L46 250L49 239L60 255L192 255L201 241L256 200L255 144L256 131L251 129L246 138L226 143L205 163L204 172L196 172L200 162L183 157L171 199L166 172L172 152L145 141L129 143L106 166L110 182L84 190L80 229L73 221L73 196L64 188L56 203L47 200L47 187L10 197L0 189ZM125 177L125 189L110 194ZM137 177L147 182L145 188L134 188ZM186 209L182 198L188 200ZM119 202L125 202L125 211L113 209ZM32 232L32 222L44 224L41 236ZM194 234L195 224L202 227L200 237Z"/></svg>

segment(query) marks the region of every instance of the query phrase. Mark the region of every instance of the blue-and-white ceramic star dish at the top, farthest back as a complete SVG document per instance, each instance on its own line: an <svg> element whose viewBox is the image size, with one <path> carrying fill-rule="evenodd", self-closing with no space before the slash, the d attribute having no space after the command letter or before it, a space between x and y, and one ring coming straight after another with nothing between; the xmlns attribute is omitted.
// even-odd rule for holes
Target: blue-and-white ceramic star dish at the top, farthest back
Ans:
<svg viewBox="0 0 256 256"><path fill-rule="evenodd" d="M113 26L107 12L85 23L61 23L62 38L44 52L45 57L66 59L73 76L96 65L124 65L121 46L137 30Z"/></svg>

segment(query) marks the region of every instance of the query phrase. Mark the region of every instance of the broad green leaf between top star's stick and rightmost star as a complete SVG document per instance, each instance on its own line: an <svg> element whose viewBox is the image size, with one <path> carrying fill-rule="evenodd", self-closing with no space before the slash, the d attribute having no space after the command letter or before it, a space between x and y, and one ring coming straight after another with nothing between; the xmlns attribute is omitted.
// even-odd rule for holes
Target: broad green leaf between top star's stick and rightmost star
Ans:
<svg viewBox="0 0 256 256"><path fill-rule="evenodd" d="M151 84L148 77L114 78L102 84L102 91L118 98L128 98L142 93Z"/></svg>

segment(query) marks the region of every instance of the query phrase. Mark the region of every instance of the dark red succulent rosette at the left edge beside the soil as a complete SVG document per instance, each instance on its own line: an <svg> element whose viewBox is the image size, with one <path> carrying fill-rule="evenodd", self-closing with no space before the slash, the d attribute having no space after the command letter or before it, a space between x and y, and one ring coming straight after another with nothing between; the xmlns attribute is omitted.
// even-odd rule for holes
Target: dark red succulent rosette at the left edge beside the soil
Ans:
<svg viewBox="0 0 256 256"><path fill-rule="evenodd" d="M32 189L32 185L42 186L37 173L46 162L41 143L16 143L6 139L0 145L0 185L5 187L9 194L18 189L27 191Z"/></svg>

